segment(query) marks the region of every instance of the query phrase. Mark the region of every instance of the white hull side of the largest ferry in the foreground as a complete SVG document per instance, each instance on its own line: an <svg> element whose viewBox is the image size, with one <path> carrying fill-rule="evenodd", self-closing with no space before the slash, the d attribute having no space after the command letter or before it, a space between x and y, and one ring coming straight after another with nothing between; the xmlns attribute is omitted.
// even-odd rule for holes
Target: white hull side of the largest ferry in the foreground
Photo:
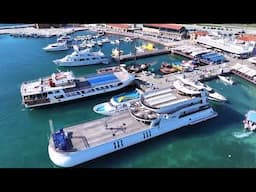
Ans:
<svg viewBox="0 0 256 192"><path fill-rule="evenodd" d="M183 118L167 118L162 119L158 126L147 128L146 130L142 130L140 132L131 134L129 136L118 138L118 140L122 139L123 145L119 148L113 148L113 143L116 140L95 146L89 147L82 151L76 152L66 152L61 153L57 152L51 144L48 145L48 154L51 161L60 167L73 167L87 161L96 159L98 157L104 156L106 154L110 154L112 152L127 148L129 146L141 143L143 141L149 140L151 138L157 137L159 135L168 133L170 131L174 131L184 126L194 125L196 123L206 121L208 119L214 118L217 116L217 113L212 109L208 108L206 110L197 112L195 114L191 114L185 116ZM170 120L171 119L171 120ZM150 132L150 136L143 137L145 131L148 133ZM148 134L147 134L148 135Z"/></svg>

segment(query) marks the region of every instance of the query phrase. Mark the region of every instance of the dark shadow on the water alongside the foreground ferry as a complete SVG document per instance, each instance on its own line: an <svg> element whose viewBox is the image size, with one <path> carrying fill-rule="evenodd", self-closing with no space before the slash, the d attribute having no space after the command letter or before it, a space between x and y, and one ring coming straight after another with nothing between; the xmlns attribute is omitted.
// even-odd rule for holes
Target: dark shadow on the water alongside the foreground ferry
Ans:
<svg viewBox="0 0 256 192"><path fill-rule="evenodd" d="M206 122L201 122L194 126L186 126L181 129L174 130L167 134L155 137L140 144L122 149L112 154L91 160L77 167L118 167L120 162L125 162L130 157L139 157L141 154L148 154L151 151L162 148L177 141L188 140L192 138L211 136L215 133L223 131L230 124L236 124L243 120L243 116L230 108L229 106L217 106L215 109L218 116Z"/></svg>

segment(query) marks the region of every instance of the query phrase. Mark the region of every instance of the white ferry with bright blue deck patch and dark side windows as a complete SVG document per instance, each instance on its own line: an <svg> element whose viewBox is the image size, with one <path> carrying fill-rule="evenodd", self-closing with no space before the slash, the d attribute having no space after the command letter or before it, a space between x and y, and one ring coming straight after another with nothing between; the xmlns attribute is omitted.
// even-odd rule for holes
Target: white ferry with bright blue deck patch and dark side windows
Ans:
<svg viewBox="0 0 256 192"><path fill-rule="evenodd" d="M130 85L135 77L124 68L119 72L74 77L72 72L23 82L20 88L25 107L37 107L116 91Z"/></svg>

